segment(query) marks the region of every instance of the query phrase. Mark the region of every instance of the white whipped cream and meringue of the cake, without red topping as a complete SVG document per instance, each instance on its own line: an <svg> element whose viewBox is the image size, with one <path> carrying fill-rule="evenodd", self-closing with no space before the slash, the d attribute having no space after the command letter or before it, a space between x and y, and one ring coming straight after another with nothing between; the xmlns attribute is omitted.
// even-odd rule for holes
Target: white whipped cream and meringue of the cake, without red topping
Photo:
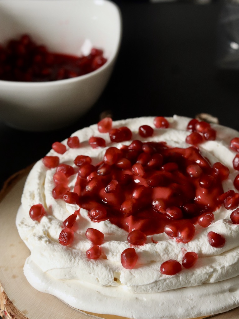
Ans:
<svg viewBox="0 0 239 319"><path fill-rule="evenodd" d="M133 133L130 141L122 143L112 143L109 135L99 133L95 124L72 134L79 138L79 148L69 148L66 139L62 142L67 147L66 152L59 154L52 149L47 156L58 156L60 163L76 169L76 156L88 155L92 159L92 164L96 165L103 159L108 147L121 148L122 145L130 145L132 140L136 139L142 142L162 141L170 147L189 147L185 139L190 134L186 130L190 119L176 115L167 119L170 123L167 129L156 129L153 125L154 117L113 122L114 128L127 126ZM138 134L141 125L153 127L153 136L142 138ZM211 165L221 162L228 167L230 174L228 179L222 182L223 191L237 191L233 185L238 174L232 165L235 152L229 148L229 143L233 137L239 137L239 132L216 124L212 124L212 127L217 132L216 140L200 144L199 150ZM104 138L106 147L93 149L88 143L91 136ZM125 269L120 262L120 256L123 250L131 247L127 241L128 232L109 220L94 222L89 218L88 211L77 204L67 204L61 199L54 199L52 190L55 187L55 171L55 168L46 168L42 160L34 165L26 180L16 219L20 237L31 251L25 263L25 276L36 289L52 293L77 309L98 313L107 311L109 314L138 319L192 318L212 315L238 305L239 286L237 289L235 285L238 284L239 275L239 225L233 224L230 220L232 211L222 205L214 211L214 223L206 228L196 223L195 235L187 243L177 241L164 232L147 236L145 245L134 246L138 255L136 266L133 269ZM72 191L75 182L76 174L70 177L69 187ZM47 212L40 222L29 217L31 206L39 203ZM69 246L62 246L58 241L62 221L79 208L80 213L74 225L74 240ZM92 246L85 236L87 228L98 229L105 235L101 245L103 254L97 260L86 257L87 249ZM226 240L225 245L221 248L212 247L207 238L209 231L221 234ZM190 251L198 254L197 263L193 267L183 268L173 276L161 273L160 266L163 262L174 259L181 263L185 252ZM48 285L49 281L52 283L51 287ZM67 294L63 293L65 289ZM218 295L221 296L220 303L218 299L213 301L210 297L210 307L208 302L202 303L202 299L200 307L196 305L197 298L203 296L206 300L210 294L217 295L217 298ZM230 301L225 298L228 294ZM125 307L126 296L128 307ZM92 298L94 305L89 302ZM111 305L114 298L117 298L119 304L117 309ZM171 298L175 300L174 303L170 301ZM104 309L101 306L102 300L107 305ZM159 309L161 315L158 314Z"/></svg>

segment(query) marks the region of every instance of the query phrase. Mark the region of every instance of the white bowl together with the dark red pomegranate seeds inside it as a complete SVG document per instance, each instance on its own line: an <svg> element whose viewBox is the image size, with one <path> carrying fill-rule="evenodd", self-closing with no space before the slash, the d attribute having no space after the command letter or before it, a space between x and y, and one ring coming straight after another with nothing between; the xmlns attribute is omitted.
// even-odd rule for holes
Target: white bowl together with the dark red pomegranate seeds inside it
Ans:
<svg viewBox="0 0 239 319"><path fill-rule="evenodd" d="M0 2L2 120L59 129L98 100L119 51L121 15L108 0Z"/></svg>

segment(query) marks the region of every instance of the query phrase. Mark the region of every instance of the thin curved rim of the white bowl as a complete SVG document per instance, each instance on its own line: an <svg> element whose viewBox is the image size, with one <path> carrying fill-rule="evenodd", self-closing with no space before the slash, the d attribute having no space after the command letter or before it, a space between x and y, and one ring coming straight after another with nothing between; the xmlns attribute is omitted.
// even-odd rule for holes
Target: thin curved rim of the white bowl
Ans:
<svg viewBox="0 0 239 319"><path fill-rule="evenodd" d="M9 0L2 0L2 2L8 2ZM15 0L17 1L17 0ZM29 0L25 0L25 1L29 1ZM37 0L37 1L46 1L46 0ZM72 1L72 2L76 2L77 0L68 0ZM89 1L89 0L87 0ZM113 55L107 59L106 63L103 64L101 67L99 67L96 70L93 70L87 74L83 74L74 78L67 78L67 79L62 79L62 80L54 80L54 81L34 81L34 82L27 82L27 81L8 81L8 80L1 80L0 79L0 85L4 85L4 86L19 86L19 87L24 87L24 86L45 86L45 85L51 85L51 86L55 86L55 85L63 85L63 84L70 84L70 83L74 83L74 82L78 82L81 80L84 80L86 78L90 78L98 73L103 72L106 68L108 68L112 63L114 63L114 61L116 60L116 57L119 53L119 48L120 48L120 43L122 40L122 15L121 15L121 11L120 8L117 4L115 4L112 0L91 0L92 2L106 2L106 3L110 3L111 5L113 5L116 9L116 12L118 14L118 19L119 19L119 41L115 47L115 50L113 52Z"/></svg>

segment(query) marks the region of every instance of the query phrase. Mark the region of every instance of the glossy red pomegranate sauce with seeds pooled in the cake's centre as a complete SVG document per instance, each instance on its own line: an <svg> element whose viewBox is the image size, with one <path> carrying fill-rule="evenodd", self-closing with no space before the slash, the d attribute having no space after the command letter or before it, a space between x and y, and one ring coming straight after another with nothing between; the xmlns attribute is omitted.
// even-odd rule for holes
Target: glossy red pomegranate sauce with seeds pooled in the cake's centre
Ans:
<svg viewBox="0 0 239 319"><path fill-rule="evenodd" d="M140 141L134 145L140 145ZM144 149L153 151L141 162L146 154ZM160 155L160 162L151 166L149 163L156 155ZM131 167L117 165L123 159L128 159ZM192 175L188 169L192 165L200 167L200 174ZM83 164L75 185L80 207L90 211L92 220L109 219L127 232L137 229L146 235L159 234L177 221L176 237L188 242L194 235L193 224L200 215L215 211L220 205L217 198L223 194L221 179L194 146L170 148L165 143L152 142L134 150L132 145L120 150L109 148L103 163L91 173L94 176L87 188L79 187L88 179L87 174L82 175L82 167ZM210 180L210 185L200 183L202 178Z"/></svg>

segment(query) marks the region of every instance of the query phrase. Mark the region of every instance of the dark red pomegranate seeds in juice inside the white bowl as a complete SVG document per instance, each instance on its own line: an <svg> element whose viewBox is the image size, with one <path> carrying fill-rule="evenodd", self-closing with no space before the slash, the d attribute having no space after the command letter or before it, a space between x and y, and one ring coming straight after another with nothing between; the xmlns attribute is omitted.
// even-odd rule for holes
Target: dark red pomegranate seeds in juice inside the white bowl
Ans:
<svg viewBox="0 0 239 319"><path fill-rule="evenodd" d="M23 34L0 45L0 79L43 82L74 78L97 70L106 61L98 48L92 48L88 56L52 53Z"/></svg>

